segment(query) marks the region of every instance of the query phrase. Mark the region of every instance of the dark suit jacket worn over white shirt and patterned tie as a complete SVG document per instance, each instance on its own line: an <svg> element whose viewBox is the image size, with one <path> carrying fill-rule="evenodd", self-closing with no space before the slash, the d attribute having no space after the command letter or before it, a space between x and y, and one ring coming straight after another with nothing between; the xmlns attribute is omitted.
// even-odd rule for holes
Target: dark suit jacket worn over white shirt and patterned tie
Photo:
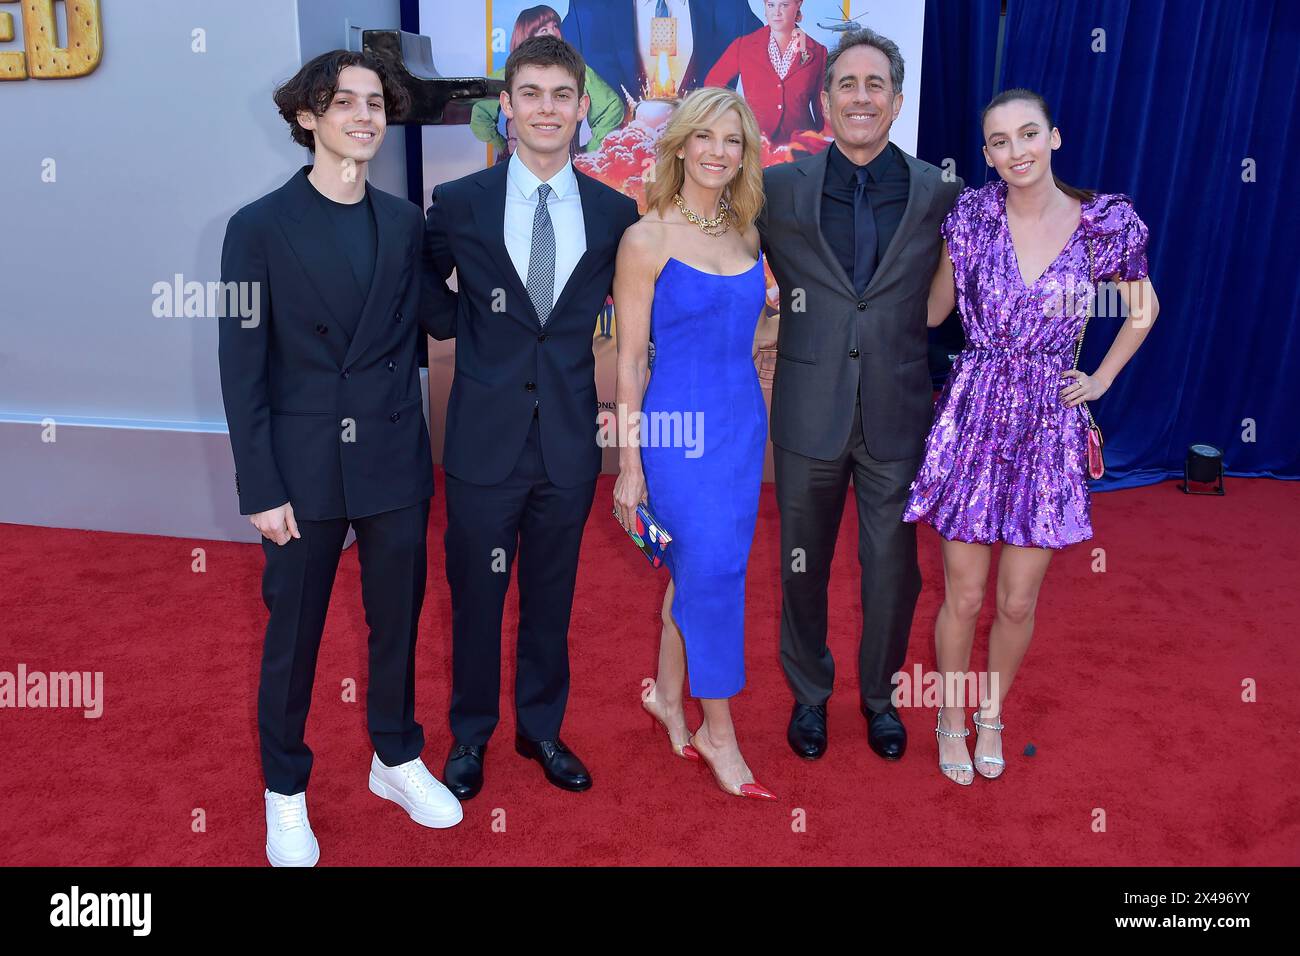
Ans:
<svg viewBox="0 0 1300 956"><path fill-rule="evenodd" d="M511 160L514 163L516 160ZM533 408L551 483L572 488L601 471L595 441L595 316L614 285L634 199L575 170L586 252L555 300L543 330L506 248L510 164L433 190L424 229L421 323L456 339L442 463L478 485L503 481L519 460ZM459 291L447 287L456 271Z"/></svg>

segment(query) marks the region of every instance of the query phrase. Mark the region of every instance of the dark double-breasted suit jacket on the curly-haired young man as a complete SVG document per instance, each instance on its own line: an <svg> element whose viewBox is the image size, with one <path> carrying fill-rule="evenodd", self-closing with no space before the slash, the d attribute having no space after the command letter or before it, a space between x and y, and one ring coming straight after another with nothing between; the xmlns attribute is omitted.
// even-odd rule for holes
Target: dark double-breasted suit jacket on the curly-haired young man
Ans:
<svg viewBox="0 0 1300 956"><path fill-rule="evenodd" d="M287 501L308 520L364 518L433 494L420 209L367 183L374 277L350 339L341 310L355 282L308 172L231 216L221 248L222 282L259 284L256 324L218 321L235 490L246 515Z"/></svg>

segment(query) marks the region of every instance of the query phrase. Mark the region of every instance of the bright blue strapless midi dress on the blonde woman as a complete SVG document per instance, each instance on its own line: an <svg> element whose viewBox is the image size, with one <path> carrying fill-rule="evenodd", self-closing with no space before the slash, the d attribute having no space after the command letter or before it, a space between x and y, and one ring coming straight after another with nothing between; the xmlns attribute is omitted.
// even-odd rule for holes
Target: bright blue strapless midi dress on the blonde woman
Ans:
<svg viewBox="0 0 1300 956"><path fill-rule="evenodd" d="M762 255L738 276L670 259L650 310L641 463L650 510L672 535L664 561L693 697L745 685L745 568L767 449L753 359L764 297Z"/></svg>

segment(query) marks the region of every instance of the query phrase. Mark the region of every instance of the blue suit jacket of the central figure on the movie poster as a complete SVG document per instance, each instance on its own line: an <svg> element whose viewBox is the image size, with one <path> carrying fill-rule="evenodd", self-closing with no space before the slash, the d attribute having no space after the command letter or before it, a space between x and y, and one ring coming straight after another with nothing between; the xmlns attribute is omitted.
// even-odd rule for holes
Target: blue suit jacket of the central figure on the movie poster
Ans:
<svg viewBox="0 0 1300 956"><path fill-rule="evenodd" d="M746 0L690 0L692 51L681 88L699 86L732 40L762 26ZM633 0L569 0L560 33L615 92L621 95L621 85L633 99L641 98L645 73Z"/></svg>

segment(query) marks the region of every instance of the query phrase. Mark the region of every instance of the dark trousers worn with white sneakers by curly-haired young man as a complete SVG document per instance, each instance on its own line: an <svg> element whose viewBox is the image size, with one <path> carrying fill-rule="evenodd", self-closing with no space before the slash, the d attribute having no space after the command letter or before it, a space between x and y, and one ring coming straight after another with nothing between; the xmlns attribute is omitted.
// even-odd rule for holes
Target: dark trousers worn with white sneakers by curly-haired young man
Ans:
<svg viewBox="0 0 1300 956"><path fill-rule="evenodd" d="M415 719L415 644L424 606L428 499L351 522L361 564L361 601L369 626L365 718L370 741L389 766L415 760L424 730ZM300 538L261 540L266 567L261 594L270 611L257 689L261 767L268 790L307 788L312 750L304 741L316 657L348 519L299 519Z"/></svg>

